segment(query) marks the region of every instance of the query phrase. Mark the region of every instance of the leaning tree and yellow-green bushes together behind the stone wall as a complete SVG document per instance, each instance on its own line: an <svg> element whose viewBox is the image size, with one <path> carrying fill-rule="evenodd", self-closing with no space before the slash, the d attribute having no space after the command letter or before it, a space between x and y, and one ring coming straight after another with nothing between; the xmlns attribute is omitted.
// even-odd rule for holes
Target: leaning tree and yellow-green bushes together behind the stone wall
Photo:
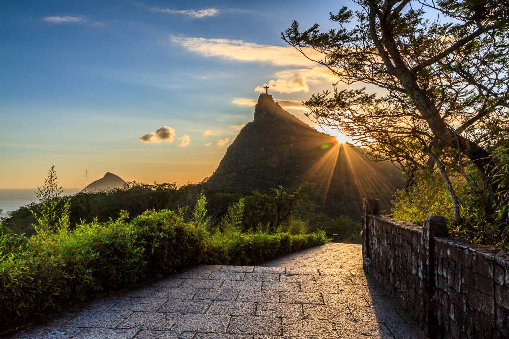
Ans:
<svg viewBox="0 0 509 339"><path fill-rule="evenodd" d="M452 233L509 249L509 13L500 0L359 0L333 29L281 38L337 75L304 105L408 176L394 216L445 215ZM354 21L354 22L352 22ZM446 37L446 38L444 38ZM373 91L369 93L368 91Z"/></svg>

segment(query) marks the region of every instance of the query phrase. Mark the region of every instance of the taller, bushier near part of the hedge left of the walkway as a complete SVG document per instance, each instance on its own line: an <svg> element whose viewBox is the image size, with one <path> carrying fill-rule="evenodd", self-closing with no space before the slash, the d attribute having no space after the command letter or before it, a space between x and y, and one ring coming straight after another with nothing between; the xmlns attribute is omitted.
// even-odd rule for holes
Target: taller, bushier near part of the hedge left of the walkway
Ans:
<svg viewBox="0 0 509 339"><path fill-rule="evenodd" d="M103 291L196 264L205 234L171 211L124 214L72 232L40 233L0 263L0 324L12 326Z"/></svg>

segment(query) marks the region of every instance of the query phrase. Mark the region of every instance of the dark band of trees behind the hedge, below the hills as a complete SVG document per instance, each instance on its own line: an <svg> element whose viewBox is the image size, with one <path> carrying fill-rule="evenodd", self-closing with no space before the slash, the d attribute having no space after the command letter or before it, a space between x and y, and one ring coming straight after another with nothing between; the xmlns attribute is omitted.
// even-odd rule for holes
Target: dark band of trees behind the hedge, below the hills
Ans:
<svg viewBox="0 0 509 339"><path fill-rule="evenodd" d="M268 191L248 191L239 188L211 188L206 184L193 184L177 187L175 184L145 185L129 183L126 189L109 192L77 193L62 199L43 199L41 204L31 204L14 211L4 222L13 233L27 236L36 233L33 225L39 224L38 216L43 204L58 204L64 207L69 199L69 228L75 224L93 221L106 222L115 218L120 211L128 212L131 218L147 210L179 211L183 217L191 217L193 208L203 192L207 200L207 215L211 228L219 228L221 218L233 206L243 199L244 213L235 220L241 232L265 229L269 233L290 232L292 234L323 230L328 237L340 235L340 239L360 242L361 224L348 216L330 216L321 211L316 203L318 192L316 185L305 184L294 190L279 187ZM58 218L53 218L55 225ZM232 220L234 222L234 220ZM52 227L52 226L51 226Z"/></svg>

